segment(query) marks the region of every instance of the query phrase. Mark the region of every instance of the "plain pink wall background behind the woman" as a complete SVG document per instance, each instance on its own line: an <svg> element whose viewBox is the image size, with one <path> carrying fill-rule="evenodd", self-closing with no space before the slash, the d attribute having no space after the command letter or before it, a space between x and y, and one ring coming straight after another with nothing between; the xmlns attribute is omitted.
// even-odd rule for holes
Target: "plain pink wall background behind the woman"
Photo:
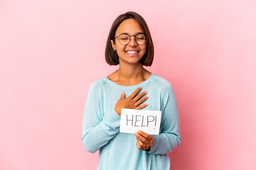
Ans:
<svg viewBox="0 0 256 170"><path fill-rule="evenodd" d="M149 71L174 87L181 145L171 169L256 169L256 3L0 1L0 169L95 169L82 112L110 26L137 11L155 46ZM129 161L129 160L127 160Z"/></svg>

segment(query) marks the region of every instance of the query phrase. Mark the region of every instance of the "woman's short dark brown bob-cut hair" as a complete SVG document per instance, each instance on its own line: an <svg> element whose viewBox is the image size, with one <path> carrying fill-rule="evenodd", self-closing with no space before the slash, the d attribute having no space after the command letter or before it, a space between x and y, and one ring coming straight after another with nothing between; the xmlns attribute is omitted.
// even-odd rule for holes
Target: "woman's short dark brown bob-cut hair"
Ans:
<svg viewBox="0 0 256 170"><path fill-rule="evenodd" d="M106 45L106 50L105 50L105 59L107 64L110 65L117 65L119 64L119 57L117 56L117 51L115 51L112 48L111 41L114 41L114 35L117 31L117 28L119 25L122 23L122 21L127 20L127 19L134 19L139 23L139 26L142 28L144 31L144 34L146 36L146 53L140 60L140 62L145 65L145 66L151 66L153 59L154 59L154 45L153 41L149 32L149 27L146 24L146 21L142 16L140 16L138 13L129 11L127 13L121 14L118 16L115 20L114 23L112 24L112 27L110 29L110 34L107 38L107 45Z"/></svg>

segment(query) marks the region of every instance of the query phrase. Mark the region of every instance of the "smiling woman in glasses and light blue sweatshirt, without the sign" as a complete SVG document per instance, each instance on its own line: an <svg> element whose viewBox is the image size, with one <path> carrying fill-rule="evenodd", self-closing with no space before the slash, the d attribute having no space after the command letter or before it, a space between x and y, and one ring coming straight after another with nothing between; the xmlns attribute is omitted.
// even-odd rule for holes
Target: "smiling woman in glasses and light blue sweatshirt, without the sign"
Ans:
<svg viewBox="0 0 256 170"><path fill-rule="evenodd" d="M170 169L166 154L181 142L178 108L171 84L143 67L151 66L154 46L142 16L117 17L105 57L119 69L90 86L82 125L87 151L100 149L97 169ZM121 108L161 111L160 134L119 132Z"/></svg>

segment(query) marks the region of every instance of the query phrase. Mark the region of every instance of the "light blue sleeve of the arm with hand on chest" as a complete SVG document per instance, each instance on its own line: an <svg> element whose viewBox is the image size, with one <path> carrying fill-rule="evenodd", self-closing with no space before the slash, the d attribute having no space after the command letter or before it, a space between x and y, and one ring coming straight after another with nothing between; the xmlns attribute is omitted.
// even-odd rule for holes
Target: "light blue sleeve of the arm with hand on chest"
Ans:
<svg viewBox="0 0 256 170"><path fill-rule="evenodd" d="M100 86L93 83L87 94L82 118L82 143L88 152L95 153L119 132L120 117L113 111L102 115L100 110Z"/></svg>

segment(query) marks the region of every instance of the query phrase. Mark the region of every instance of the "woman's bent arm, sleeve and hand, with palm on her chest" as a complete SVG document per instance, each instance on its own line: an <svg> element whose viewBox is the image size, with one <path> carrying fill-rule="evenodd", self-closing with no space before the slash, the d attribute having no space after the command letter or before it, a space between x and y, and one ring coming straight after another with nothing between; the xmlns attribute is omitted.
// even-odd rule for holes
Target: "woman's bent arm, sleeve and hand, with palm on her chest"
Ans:
<svg viewBox="0 0 256 170"><path fill-rule="evenodd" d="M92 84L87 95L84 117L82 120L82 142L89 152L96 152L107 145L117 132L119 132L121 108L141 109L146 107L146 92L139 94L142 88L135 90L130 96L125 98L124 92L117 101L115 108L109 115L102 118L100 111L100 88Z"/></svg>

